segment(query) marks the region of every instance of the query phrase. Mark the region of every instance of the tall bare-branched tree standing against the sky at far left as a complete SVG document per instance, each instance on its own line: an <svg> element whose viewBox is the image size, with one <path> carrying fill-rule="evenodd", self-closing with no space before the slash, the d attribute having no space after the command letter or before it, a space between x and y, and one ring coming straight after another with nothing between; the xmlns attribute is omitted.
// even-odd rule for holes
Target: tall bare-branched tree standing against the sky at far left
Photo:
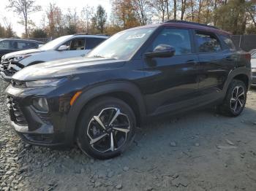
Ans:
<svg viewBox="0 0 256 191"><path fill-rule="evenodd" d="M41 7L35 5L34 0L9 0L8 9L12 9L13 12L17 12L21 16L23 25L25 26L25 35L28 37L28 21L29 14L32 12L38 12L41 10Z"/></svg>

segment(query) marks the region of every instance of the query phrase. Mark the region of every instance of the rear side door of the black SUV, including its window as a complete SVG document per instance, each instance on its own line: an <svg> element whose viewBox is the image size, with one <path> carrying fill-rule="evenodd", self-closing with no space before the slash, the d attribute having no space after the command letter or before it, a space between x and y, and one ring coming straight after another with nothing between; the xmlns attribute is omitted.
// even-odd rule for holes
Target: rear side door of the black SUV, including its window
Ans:
<svg viewBox="0 0 256 191"><path fill-rule="evenodd" d="M227 76L236 65L236 55L222 43L219 36L208 31L195 31L199 65L198 88L202 101L222 96Z"/></svg>

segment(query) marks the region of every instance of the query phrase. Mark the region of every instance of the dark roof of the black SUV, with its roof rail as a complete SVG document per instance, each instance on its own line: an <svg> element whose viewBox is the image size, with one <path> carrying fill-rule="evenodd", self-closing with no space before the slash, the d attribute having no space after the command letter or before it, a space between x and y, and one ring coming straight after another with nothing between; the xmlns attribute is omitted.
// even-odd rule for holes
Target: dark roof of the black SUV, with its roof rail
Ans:
<svg viewBox="0 0 256 191"><path fill-rule="evenodd" d="M188 22L184 20L168 20L165 23L160 24L153 24L153 25L147 25L147 26L139 26L136 28L152 28L152 27L160 27L160 26L170 26L170 27L177 27L177 28L192 28L195 30L202 30L202 31L209 31L217 34L225 34L230 35L227 31L222 31L221 29L215 27L215 26L208 26L201 23L193 23ZM128 29L131 30L132 28ZM134 28L133 28L134 29Z"/></svg>

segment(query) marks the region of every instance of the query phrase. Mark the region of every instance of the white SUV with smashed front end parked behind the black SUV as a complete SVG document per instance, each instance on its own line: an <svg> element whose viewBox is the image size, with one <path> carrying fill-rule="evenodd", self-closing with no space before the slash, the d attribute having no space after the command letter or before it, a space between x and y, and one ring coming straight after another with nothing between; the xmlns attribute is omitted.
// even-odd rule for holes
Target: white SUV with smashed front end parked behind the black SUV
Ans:
<svg viewBox="0 0 256 191"><path fill-rule="evenodd" d="M10 82L12 75L26 66L86 55L108 36L75 34L61 36L38 49L12 52L1 58L0 77Z"/></svg>

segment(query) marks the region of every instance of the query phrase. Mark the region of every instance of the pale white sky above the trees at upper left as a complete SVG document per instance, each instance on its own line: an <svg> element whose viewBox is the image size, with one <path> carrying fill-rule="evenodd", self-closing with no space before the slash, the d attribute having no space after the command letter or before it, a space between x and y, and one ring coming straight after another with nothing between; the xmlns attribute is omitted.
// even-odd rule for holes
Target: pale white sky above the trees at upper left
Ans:
<svg viewBox="0 0 256 191"><path fill-rule="evenodd" d="M0 23L2 26L4 26L3 18L7 17L8 22L12 23L13 30L18 36L21 36L21 34L24 32L24 27L18 23L20 20L19 15L6 9L8 2L9 0L1 0ZM35 0L35 4L42 7L42 11L29 15L30 19L36 24L36 26L40 26L42 23L42 15L45 14L45 10L50 3L55 3L58 7L61 7L63 12L67 12L67 9L76 9L77 12L80 13L83 7L86 7L86 4L91 7L97 7L99 4L101 4L106 9L108 16L111 12L110 0Z"/></svg>

